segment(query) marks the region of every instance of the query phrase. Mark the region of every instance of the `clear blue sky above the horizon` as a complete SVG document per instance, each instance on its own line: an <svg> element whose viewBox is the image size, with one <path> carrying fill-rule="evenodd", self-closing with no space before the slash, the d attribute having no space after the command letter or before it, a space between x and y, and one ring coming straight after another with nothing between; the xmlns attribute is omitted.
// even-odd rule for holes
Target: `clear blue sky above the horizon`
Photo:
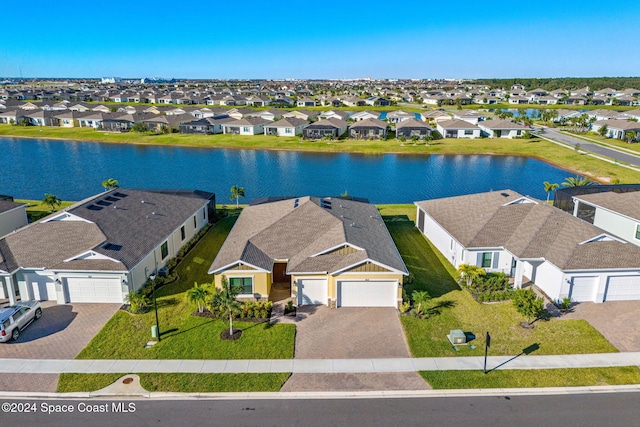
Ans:
<svg viewBox="0 0 640 427"><path fill-rule="evenodd" d="M640 71L638 0L31 0L20 9L2 22L0 76L505 78Z"/></svg>

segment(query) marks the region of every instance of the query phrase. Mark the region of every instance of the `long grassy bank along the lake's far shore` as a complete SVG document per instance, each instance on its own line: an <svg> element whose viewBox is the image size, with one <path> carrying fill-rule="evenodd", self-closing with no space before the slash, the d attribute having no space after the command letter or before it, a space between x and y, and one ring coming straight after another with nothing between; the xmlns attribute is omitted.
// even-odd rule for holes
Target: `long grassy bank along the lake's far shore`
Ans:
<svg viewBox="0 0 640 427"><path fill-rule="evenodd" d="M533 138L524 139L442 139L430 145L389 141L303 141L300 138L241 135L149 135L108 133L86 128L35 128L0 125L0 136L104 142L135 145L163 145L193 148L224 148L244 150L282 150L301 152L358 153L367 155L494 155L534 158L567 170L571 174L588 176L601 183L617 179L621 183L640 182L640 172L610 164L575 150Z"/></svg>

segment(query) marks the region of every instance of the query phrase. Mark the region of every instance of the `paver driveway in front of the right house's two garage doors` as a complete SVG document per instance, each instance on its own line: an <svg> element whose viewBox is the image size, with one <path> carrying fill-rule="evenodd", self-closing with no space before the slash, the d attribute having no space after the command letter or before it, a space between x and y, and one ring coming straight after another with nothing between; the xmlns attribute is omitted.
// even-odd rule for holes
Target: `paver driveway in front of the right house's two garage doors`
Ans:
<svg viewBox="0 0 640 427"><path fill-rule="evenodd" d="M563 319L584 319L620 351L640 351L640 301L582 302Z"/></svg>

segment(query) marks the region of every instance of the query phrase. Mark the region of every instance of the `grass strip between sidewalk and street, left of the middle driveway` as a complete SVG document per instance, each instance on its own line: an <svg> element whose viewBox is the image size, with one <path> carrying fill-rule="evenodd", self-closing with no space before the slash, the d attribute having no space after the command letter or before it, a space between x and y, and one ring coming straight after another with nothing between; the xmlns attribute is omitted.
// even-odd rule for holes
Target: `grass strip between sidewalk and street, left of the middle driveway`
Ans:
<svg viewBox="0 0 640 427"><path fill-rule="evenodd" d="M151 392L224 393L277 392L291 374L139 374L142 387ZM100 390L123 374L62 374L58 393Z"/></svg>

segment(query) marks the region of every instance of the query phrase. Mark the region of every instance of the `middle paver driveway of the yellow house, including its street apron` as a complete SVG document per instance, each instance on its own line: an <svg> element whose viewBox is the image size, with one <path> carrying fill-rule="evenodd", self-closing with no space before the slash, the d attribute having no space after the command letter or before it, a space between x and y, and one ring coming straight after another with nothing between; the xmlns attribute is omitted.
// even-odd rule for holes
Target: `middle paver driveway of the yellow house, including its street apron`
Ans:
<svg viewBox="0 0 640 427"><path fill-rule="evenodd" d="M394 308L299 308L296 359L411 357ZM424 390L416 372L293 374L282 391Z"/></svg>

